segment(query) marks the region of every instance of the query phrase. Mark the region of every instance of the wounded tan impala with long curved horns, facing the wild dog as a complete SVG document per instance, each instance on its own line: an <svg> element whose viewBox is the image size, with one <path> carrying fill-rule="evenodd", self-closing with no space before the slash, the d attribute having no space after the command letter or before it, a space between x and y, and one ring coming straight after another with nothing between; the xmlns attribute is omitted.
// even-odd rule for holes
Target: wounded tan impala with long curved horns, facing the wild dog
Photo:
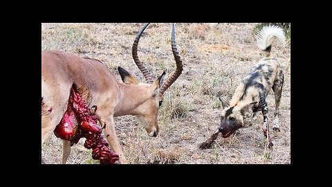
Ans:
<svg viewBox="0 0 332 187"><path fill-rule="evenodd" d="M149 24L145 24L133 42L133 60L142 71L147 83L140 83L128 71L118 67L122 82L99 60L78 57L61 51L42 51L42 144L59 124L73 84L80 87L80 94L88 107L98 106L95 112L100 124L106 124L104 134L111 148L119 155L120 163L127 163L116 135L114 116L137 116L151 137L160 131L157 116L163 103L163 94L181 75L183 64L175 43L172 24L172 52L176 70L164 81L165 71L156 80L138 59L138 41ZM71 141L63 142L62 163L71 152Z"/></svg>

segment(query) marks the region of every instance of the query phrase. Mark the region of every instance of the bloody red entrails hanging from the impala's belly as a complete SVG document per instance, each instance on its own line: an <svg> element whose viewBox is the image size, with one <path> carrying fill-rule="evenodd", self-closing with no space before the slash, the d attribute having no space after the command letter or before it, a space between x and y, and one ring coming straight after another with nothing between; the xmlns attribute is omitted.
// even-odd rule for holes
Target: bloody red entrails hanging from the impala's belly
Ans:
<svg viewBox="0 0 332 187"><path fill-rule="evenodd" d="M84 148L93 150L93 159L100 160L100 163L115 163L119 156L111 151L109 143L104 140L102 128L97 125L98 117L95 114L97 106L93 106L93 109L94 111L91 112L91 109L86 106L74 84L71 88L67 110L55 128L54 134L60 139L71 141L71 145L78 143L84 137L86 138ZM78 124L76 126L75 120Z"/></svg>

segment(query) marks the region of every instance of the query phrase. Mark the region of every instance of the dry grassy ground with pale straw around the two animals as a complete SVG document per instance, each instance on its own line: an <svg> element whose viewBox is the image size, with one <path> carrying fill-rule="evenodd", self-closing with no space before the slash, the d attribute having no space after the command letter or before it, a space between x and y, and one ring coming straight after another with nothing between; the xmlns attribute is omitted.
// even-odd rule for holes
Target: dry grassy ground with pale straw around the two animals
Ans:
<svg viewBox="0 0 332 187"><path fill-rule="evenodd" d="M101 60L116 75L122 66L145 81L131 57L131 45L143 24L42 24L42 50L57 49ZM156 138L147 136L135 116L116 118L116 130L129 163L291 163L291 42L273 46L285 73L279 107L281 132L272 132L275 146L265 148L263 116L235 136L216 139L212 148L198 150L220 122L221 103L230 100L242 78L263 53L255 40L257 24L176 24L176 44L183 60L183 74L164 94ZM150 24L138 45L138 56L156 78L175 68L170 24ZM272 129L275 100L267 98ZM67 163L99 163L91 158L84 139L73 145ZM49 163L61 163L62 141L55 135L42 145Z"/></svg>

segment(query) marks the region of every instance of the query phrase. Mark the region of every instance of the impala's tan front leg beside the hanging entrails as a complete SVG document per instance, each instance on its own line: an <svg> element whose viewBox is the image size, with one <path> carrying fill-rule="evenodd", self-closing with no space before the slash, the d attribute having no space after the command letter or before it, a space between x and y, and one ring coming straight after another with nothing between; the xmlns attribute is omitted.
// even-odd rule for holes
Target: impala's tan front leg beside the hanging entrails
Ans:
<svg viewBox="0 0 332 187"><path fill-rule="evenodd" d="M124 153L122 152L118 136L116 136L116 128L114 126L113 115L101 117L100 122L102 123L102 126L104 126L103 123L106 123L104 134L107 136L107 141L109 142L109 145L111 146L113 151L119 155L120 163L128 163L126 157L124 157Z"/></svg>

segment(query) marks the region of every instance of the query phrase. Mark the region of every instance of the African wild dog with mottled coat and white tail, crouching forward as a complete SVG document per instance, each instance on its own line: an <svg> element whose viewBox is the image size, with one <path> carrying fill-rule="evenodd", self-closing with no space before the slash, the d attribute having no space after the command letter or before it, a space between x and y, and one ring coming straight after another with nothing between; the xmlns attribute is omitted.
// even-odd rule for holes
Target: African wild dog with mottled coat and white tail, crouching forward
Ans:
<svg viewBox="0 0 332 187"><path fill-rule="evenodd" d="M266 57L261 59L244 78L235 93L232 96L230 104L222 98L221 104L221 123L218 129L210 138L201 143L199 148L210 148L212 142L219 133L223 138L227 138L241 127L250 124L250 118L255 116L256 112L261 111L264 116L263 132L268 139L268 147L272 147L270 135L268 133L268 104L266 96L272 88L275 92L275 121L273 130L279 130L279 104L282 97L282 85L284 83L284 73L277 60L271 57L271 45L274 39L284 46L285 36L282 28L277 26L264 27L257 36L258 47L265 51Z"/></svg>

